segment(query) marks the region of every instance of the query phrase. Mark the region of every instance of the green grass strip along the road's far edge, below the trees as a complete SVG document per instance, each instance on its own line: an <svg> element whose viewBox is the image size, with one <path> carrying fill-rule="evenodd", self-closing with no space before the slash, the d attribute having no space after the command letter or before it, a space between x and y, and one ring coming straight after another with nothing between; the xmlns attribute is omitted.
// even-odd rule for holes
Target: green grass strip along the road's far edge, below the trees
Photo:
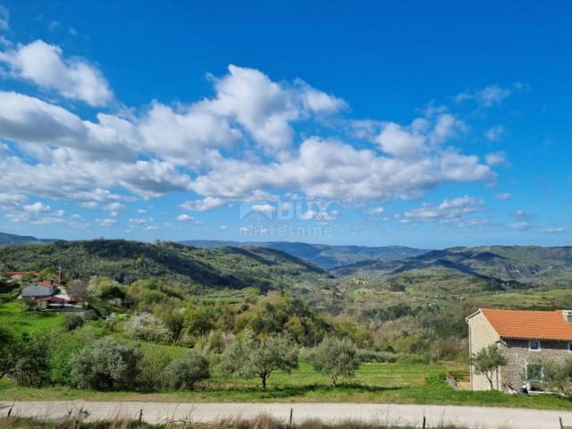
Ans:
<svg viewBox="0 0 572 429"><path fill-rule="evenodd" d="M366 364L355 380L338 388L302 363L291 374L272 374L268 391L257 380L236 380L214 374L197 391L79 391L69 387L31 389L0 381L2 400L141 400L164 402L374 402L480 405L490 407L572 410L572 400L556 396L509 395L497 391L455 391L444 381L445 364ZM447 366L451 367L451 366ZM452 366L458 367L458 364Z"/></svg>

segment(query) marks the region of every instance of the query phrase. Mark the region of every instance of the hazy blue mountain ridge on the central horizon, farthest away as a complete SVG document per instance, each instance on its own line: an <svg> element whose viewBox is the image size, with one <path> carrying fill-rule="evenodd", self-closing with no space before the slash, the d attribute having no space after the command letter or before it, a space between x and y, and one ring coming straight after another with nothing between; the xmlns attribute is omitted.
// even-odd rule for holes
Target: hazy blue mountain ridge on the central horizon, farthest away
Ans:
<svg viewBox="0 0 572 429"><path fill-rule="evenodd" d="M273 248L289 253L294 257L306 259L323 268L335 268L341 265L353 264L365 259L402 259L416 257L431 250L421 248L407 248L404 246L340 246L326 244L309 244L290 241L267 241L267 242L240 242L225 240L184 240L181 244L196 248L223 248L227 246L235 248L257 247Z"/></svg>

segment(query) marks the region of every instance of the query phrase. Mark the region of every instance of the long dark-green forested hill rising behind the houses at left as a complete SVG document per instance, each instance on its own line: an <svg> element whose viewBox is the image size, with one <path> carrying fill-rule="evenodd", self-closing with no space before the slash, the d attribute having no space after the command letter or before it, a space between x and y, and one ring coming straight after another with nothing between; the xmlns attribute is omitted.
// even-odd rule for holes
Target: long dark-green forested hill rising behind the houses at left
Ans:
<svg viewBox="0 0 572 429"><path fill-rule="evenodd" d="M322 268L271 248L191 248L167 241L8 245L0 248L0 263L21 271L62 266L73 278L104 275L122 283L159 278L209 289L282 289L329 276Z"/></svg>

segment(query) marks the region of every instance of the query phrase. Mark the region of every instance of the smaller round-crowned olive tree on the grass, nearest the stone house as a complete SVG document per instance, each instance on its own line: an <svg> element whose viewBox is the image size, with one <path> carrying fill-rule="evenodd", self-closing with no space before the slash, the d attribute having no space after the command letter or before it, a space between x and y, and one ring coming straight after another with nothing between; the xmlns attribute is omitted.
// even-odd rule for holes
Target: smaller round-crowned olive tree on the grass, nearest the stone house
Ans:
<svg viewBox="0 0 572 429"><path fill-rule="evenodd" d="M316 371L330 374L333 387L338 385L340 376L351 377L356 374L359 366L356 346L349 338L324 338L314 349L310 361Z"/></svg>

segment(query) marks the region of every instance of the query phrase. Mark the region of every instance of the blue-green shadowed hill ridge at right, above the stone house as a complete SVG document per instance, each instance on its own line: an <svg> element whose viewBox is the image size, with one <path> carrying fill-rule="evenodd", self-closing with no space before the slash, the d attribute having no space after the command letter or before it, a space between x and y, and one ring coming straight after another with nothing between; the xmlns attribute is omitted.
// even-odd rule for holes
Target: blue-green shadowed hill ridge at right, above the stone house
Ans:
<svg viewBox="0 0 572 429"><path fill-rule="evenodd" d="M572 284L572 247L481 246L445 248L417 257L371 259L332 270L337 275L405 273L425 268L447 268L473 274L531 284Z"/></svg>

